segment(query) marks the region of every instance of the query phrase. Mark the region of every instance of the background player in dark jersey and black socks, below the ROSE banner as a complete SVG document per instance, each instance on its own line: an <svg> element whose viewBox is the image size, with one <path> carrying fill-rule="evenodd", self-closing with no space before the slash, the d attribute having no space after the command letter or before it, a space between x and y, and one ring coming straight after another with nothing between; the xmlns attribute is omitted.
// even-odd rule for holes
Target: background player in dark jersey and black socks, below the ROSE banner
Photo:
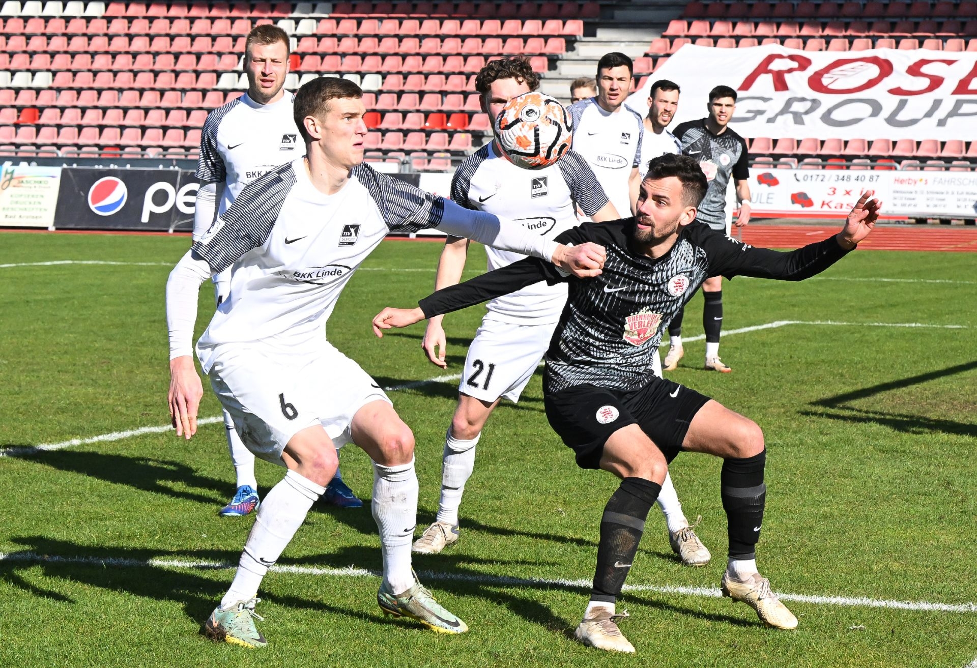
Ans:
<svg viewBox="0 0 977 668"><path fill-rule="evenodd" d="M726 222L726 188L730 177L736 183L740 215L735 225L742 228L749 223L749 155L746 142L729 122L736 111L736 91L729 86L716 86L709 91L709 114L699 120L679 123L675 137L682 143L682 153L695 158L705 174L709 188L699 207L698 218L713 230L730 233ZM719 358L719 336L723 327L723 279L710 276L702 282L702 329L705 331L705 368L729 373L732 369ZM682 349L682 316L675 314L668 323L669 349L664 370L673 371L685 355Z"/></svg>

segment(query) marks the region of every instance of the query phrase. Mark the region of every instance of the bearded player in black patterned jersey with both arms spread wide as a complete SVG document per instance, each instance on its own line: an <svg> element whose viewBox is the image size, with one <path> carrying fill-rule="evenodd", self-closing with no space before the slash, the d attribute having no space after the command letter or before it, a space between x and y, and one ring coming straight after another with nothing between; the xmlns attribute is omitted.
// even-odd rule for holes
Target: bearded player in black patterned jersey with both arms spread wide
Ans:
<svg viewBox="0 0 977 668"><path fill-rule="evenodd" d="M766 460L753 421L695 390L655 377L651 355L664 323L712 275L802 280L826 270L874 226L880 202L866 192L844 228L824 241L782 253L753 248L696 221L706 189L695 159L662 155L649 163L638 215L583 224L557 238L605 246L603 273L578 280L524 260L439 290L412 310L385 309L373 318L377 336L448 313L541 279L568 280L570 296L549 351L543 393L550 425L573 448L577 465L621 479L601 520L590 604L576 629L586 645L633 652L617 628L616 598L633 564L667 462L679 451L721 457L729 562L722 591L753 607L767 625L791 629L797 619L756 569L763 523Z"/></svg>

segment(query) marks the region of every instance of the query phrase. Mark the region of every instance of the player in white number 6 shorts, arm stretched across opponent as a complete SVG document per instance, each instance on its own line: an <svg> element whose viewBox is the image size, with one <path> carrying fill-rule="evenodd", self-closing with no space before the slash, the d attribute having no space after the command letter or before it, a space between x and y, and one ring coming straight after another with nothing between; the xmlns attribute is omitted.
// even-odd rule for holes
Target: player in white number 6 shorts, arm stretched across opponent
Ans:
<svg viewBox="0 0 977 668"><path fill-rule="evenodd" d="M377 603L442 633L467 626L439 605L410 567L417 511L413 435L383 390L325 338L325 322L353 271L392 231L439 227L489 245L552 258L596 275L600 246L568 248L494 216L463 209L361 164L366 126L359 86L321 77L296 94L306 157L241 190L180 260L166 288L169 407L191 438L203 393L191 357L199 285L233 267L229 298L197 342L200 365L244 444L287 469L265 496L231 588L204 629L215 640L267 645L254 626L257 592L325 491L336 445L356 442L373 460L372 512L383 556Z"/></svg>

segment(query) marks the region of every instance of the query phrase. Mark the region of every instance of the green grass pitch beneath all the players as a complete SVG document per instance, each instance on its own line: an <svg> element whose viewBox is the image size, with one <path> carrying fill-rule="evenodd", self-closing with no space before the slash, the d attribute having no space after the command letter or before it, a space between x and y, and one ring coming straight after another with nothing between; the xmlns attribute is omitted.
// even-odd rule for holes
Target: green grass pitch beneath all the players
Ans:
<svg viewBox="0 0 977 668"><path fill-rule="evenodd" d="M0 446L167 422L163 291L187 245L186 237L0 234ZM385 387L459 372L482 316L473 308L447 317L447 371L422 356L423 325L373 338L369 320L380 308L428 293L440 249L385 242L329 322L330 340ZM799 323L724 338L732 374L702 371L703 343L691 342L671 375L764 429L758 563L776 591L813 597L786 601L800 619L795 632L765 629L745 605L703 595L725 564L720 463L684 454L673 478L686 514L702 516L712 564L678 564L654 510L628 580L637 587L618 604L631 614L622 630L637 655L573 642L587 592L574 581L593 574L616 480L576 469L546 424L537 374L518 405L503 404L488 422L461 541L415 560L471 626L467 635L388 620L375 575L336 572L379 568L368 506L310 513L279 563L296 568L270 573L262 588L270 647L199 635L234 571L193 564L236 564L251 523L217 516L233 492L217 423L189 442L147 433L0 458L0 666L967 666L977 657L974 258L859 251L803 283L736 279L724 289L727 332ZM124 264L26 266L93 260ZM467 275L483 268L473 250ZM201 288L198 333L212 294ZM699 313L697 296L688 336L701 333ZM815 321L848 324L803 324ZM927 326L887 326L899 323ZM455 393L451 382L390 393L417 439L419 525L437 509ZM207 388L201 416L218 414ZM341 461L368 496L366 456L351 446ZM258 463L263 490L281 473Z"/></svg>

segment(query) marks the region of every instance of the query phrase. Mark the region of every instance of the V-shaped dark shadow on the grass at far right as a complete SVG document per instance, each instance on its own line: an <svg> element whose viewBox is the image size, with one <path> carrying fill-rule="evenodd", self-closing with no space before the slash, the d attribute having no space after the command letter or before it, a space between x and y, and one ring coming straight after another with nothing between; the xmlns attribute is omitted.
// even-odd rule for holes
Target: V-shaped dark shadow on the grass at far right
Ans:
<svg viewBox="0 0 977 668"><path fill-rule="evenodd" d="M923 415L914 415L912 413L897 413L871 409L866 410L863 408L856 408L851 405L846 405L850 401L875 397L892 390L901 390L903 388L912 387L913 385L921 385L923 383L928 383L929 381L945 378L947 376L954 376L958 373L965 373L974 369L977 369L977 361L956 364L954 366L948 366L945 369L928 371L926 373L910 376L909 378L901 378L895 381L878 383L877 385L872 385L868 388L846 392L841 395L835 395L834 397L818 399L817 401L812 401L810 403L810 405L818 406L820 408L848 412L805 410L800 411L800 414L811 417L839 420L842 422L879 424L888 427L893 431L907 434L929 434L939 432L943 434L954 434L957 436L974 436L974 434L977 434L977 425L972 423L956 422L956 420L947 420L942 418L930 418Z"/></svg>

